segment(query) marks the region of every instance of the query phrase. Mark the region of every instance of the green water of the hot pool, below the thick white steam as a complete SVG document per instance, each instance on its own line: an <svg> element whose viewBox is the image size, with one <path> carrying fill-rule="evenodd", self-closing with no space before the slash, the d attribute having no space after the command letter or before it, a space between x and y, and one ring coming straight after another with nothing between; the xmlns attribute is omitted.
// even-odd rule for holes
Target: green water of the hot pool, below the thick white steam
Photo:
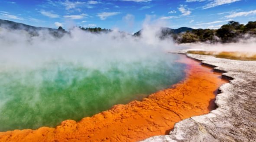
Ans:
<svg viewBox="0 0 256 142"><path fill-rule="evenodd" d="M1 69L0 131L55 127L142 99L183 79L185 65L175 59L114 62L101 69L67 62Z"/></svg>

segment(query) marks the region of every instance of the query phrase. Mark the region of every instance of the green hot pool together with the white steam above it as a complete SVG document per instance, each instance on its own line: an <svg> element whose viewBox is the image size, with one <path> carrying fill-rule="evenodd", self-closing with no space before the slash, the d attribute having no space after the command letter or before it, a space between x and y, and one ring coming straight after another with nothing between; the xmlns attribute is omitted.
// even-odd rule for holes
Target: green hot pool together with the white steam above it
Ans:
<svg viewBox="0 0 256 142"><path fill-rule="evenodd" d="M0 131L55 127L170 87L183 78L184 65L166 52L169 41L0 29Z"/></svg>

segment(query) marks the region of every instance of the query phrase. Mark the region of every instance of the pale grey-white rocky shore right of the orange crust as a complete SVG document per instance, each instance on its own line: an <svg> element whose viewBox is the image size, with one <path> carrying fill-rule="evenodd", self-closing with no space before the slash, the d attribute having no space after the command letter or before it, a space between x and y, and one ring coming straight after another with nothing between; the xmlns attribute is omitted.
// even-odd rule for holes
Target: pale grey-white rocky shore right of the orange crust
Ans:
<svg viewBox="0 0 256 142"><path fill-rule="evenodd" d="M256 142L256 61L187 56L223 71L222 77L233 80L220 86L216 110L182 120L169 135L153 136L143 142Z"/></svg>

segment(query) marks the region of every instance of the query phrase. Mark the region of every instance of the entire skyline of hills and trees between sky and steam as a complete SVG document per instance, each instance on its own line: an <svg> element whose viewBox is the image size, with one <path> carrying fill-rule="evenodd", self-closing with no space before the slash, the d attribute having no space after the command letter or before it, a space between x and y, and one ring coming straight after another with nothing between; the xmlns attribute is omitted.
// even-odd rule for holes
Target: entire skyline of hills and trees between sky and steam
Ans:
<svg viewBox="0 0 256 142"><path fill-rule="evenodd" d="M10 30L25 30L28 31L31 36L38 36L40 30L48 30L50 34L55 37L62 37L69 32L65 31L62 27L58 29L35 27L22 23L12 22L8 20L0 19L0 28L7 28ZM81 30L92 33L111 32L109 29L102 28L81 28ZM143 29L142 29L143 30ZM133 34L134 36L140 36L142 30ZM121 32L122 33L122 32ZM188 27L181 27L178 29L161 28L161 35L159 38L172 37L176 43L230 43L237 42L238 39L256 38L256 21L250 21L246 25L239 22L230 21L227 24L221 26L219 29L192 29Z"/></svg>

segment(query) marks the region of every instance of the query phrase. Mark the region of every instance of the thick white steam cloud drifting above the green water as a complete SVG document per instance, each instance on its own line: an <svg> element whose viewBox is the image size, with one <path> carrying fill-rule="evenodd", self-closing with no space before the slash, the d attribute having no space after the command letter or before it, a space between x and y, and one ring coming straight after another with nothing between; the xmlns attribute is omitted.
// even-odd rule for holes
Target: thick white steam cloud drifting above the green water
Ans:
<svg viewBox="0 0 256 142"><path fill-rule="evenodd" d="M146 29L149 29L146 27ZM156 29L154 27L153 29ZM0 31L0 61L6 65L40 65L53 59L83 62L96 68L106 62L131 62L146 56L159 56L163 51L175 50L172 40L160 40L157 32L145 30L142 38L113 31L109 34L91 34L74 28L70 35L55 38L48 31L39 31L31 37L26 31ZM96 64L97 63L97 64Z"/></svg>

